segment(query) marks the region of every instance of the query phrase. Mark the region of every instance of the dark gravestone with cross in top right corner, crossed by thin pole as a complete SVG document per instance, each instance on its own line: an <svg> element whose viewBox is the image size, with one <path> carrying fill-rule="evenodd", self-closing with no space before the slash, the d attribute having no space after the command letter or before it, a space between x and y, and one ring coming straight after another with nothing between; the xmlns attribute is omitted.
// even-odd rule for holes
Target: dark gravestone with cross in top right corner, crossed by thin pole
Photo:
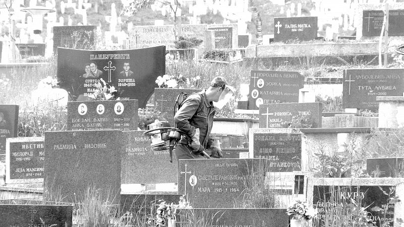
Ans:
<svg viewBox="0 0 404 227"><path fill-rule="evenodd" d="M384 12L382 10L364 10L362 35L380 36L383 27ZM388 35L404 35L404 10L389 10L388 12Z"/></svg>

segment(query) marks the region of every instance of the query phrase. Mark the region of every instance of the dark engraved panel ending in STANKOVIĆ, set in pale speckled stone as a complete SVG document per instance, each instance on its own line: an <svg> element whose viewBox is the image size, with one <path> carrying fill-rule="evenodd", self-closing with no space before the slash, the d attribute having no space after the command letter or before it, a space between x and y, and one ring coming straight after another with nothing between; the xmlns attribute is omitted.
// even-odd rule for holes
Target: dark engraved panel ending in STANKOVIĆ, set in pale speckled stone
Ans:
<svg viewBox="0 0 404 227"><path fill-rule="evenodd" d="M301 133L254 133L254 158L269 160L271 172L301 170Z"/></svg>

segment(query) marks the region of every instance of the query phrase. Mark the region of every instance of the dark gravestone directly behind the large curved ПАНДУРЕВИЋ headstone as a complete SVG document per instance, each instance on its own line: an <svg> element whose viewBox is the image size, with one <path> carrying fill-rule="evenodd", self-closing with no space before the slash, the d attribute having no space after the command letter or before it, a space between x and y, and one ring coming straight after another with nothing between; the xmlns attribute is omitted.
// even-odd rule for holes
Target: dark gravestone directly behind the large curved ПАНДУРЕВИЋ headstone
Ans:
<svg viewBox="0 0 404 227"><path fill-rule="evenodd" d="M54 54L58 47L84 49L94 45L95 25L54 26ZM59 61L58 61L59 62Z"/></svg>

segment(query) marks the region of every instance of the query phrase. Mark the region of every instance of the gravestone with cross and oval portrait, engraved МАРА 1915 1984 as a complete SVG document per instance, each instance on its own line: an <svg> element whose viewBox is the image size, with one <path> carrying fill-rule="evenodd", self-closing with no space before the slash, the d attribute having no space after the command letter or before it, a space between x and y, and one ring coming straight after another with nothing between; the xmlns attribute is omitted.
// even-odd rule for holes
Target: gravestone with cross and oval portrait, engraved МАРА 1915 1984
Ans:
<svg viewBox="0 0 404 227"><path fill-rule="evenodd" d="M265 159L181 159L178 192L194 208L232 208L242 203L252 181L264 181L265 164Z"/></svg>

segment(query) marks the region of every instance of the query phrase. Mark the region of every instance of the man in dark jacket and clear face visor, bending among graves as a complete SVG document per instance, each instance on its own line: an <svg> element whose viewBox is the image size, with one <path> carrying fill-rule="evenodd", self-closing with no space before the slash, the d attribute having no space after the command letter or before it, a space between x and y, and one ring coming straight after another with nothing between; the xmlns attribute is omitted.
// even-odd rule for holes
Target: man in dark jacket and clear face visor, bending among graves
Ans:
<svg viewBox="0 0 404 227"><path fill-rule="evenodd" d="M226 79L216 77L207 90L190 95L174 116L177 128L185 132L191 140L181 136L175 148L177 159L202 159L204 149L212 150L212 157L222 158L218 141L210 138L215 107L223 106L234 97L234 89ZM214 106L215 102L215 106Z"/></svg>

